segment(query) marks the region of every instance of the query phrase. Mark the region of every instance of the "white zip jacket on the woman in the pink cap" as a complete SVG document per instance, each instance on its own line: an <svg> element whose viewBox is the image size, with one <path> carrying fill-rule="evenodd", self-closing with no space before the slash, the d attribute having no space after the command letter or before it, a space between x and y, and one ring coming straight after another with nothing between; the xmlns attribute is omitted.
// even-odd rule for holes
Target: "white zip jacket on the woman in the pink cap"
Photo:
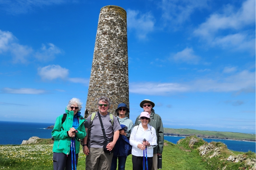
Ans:
<svg viewBox="0 0 256 170"><path fill-rule="evenodd" d="M144 130L142 125L135 126L132 129L130 135L130 144L132 145L132 155L134 156L143 156L143 150L138 148L138 144L142 144L142 140L146 139L151 146L147 146L147 157L153 157L153 148L157 145L156 130L148 124L148 129ZM146 151L145 156L146 156Z"/></svg>

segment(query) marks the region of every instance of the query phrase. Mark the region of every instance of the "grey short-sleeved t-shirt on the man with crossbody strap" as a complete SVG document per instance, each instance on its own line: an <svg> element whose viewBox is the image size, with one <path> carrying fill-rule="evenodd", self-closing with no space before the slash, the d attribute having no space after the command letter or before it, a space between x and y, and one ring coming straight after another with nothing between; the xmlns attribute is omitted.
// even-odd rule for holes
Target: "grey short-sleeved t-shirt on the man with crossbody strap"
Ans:
<svg viewBox="0 0 256 170"><path fill-rule="evenodd" d="M92 115L88 116L87 121L85 121L84 123L85 128L89 128L91 123L91 116ZM105 116L102 116L100 114L100 116L101 116L103 127L105 129L107 139L113 140L113 135L114 135L113 131L115 132L121 129L116 117L113 116L114 123L112 126L109 113ZM88 147L96 147L96 148L103 147L104 136L103 136L103 132L101 129L100 120L97 112L92 121L91 131L88 132L88 138L89 138Z"/></svg>

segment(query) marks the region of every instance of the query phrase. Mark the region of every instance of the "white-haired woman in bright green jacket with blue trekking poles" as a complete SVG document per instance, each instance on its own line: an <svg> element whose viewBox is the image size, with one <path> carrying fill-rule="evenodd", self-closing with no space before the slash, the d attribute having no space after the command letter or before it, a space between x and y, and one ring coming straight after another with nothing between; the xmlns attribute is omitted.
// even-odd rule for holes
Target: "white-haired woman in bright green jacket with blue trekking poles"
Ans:
<svg viewBox="0 0 256 170"><path fill-rule="evenodd" d="M68 102L66 115L63 114L56 119L52 130L52 136L54 137L54 170L72 170L77 166L79 139L83 139L86 136L84 128L85 119L81 116L81 108L82 103L80 100L73 98ZM66 119L62 120L63 117L66 117ZM71 141L75 142L75 144L71 145L73 144ZM73 151L73 154L71 151Z"/></svg>

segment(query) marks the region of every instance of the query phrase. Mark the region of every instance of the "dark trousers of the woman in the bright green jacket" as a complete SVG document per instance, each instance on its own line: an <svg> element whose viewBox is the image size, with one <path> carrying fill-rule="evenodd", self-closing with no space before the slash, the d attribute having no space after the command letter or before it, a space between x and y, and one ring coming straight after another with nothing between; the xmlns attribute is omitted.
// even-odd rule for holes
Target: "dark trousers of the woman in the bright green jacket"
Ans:
<svg viewBox="0 0 256 170"><path fill-rule="evenodd" d="M76 154L76 165L78 160L78 153ZM73 167L74 164L74 157L73 157ZM71 152L70 154L64 153L56 153L53 152L53 169L54 170L72 170L72 159L71 159Z"/></svg>

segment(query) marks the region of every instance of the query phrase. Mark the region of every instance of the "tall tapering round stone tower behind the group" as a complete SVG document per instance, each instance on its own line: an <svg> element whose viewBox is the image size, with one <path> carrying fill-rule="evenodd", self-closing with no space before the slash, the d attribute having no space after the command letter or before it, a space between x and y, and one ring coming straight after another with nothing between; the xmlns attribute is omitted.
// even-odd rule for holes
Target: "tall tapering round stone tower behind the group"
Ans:
<svg viewBox="0 0 256 170"><path fill-rule="evenodd" d="M85 118L98 111L100 96L110 99L110 113L119 103L129 107L126 11L113 5L100 10Z"/></svg>

